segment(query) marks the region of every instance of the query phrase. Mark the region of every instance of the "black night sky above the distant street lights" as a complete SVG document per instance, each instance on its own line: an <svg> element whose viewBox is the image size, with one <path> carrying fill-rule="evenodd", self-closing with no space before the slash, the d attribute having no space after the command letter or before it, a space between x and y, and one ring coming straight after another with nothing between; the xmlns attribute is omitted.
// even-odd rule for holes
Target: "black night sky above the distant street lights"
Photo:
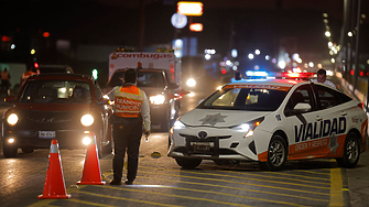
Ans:
<svg viewBox="0 0 369 207"><path fill-rule="evenodd" d="M51 40L69 40L73 45L140 44L139 0L29 0L1 1L0 34L23 36L51 33ZM144 46L170 44L174 36L171 17L176 12L173 0L144 1ZM328 13L332 39L339 43L344 0L205 0L204 14L192 21L203 23L204 31L181 30L178 37L198 39L198 53L215 48L226 55L230 47L245 58L256 48L276 54L281 37L293 37L297 53L328 56L323 12ZM362 12L368 12L367 0ZM368 34L368 19L363 20L362 36ZM230 45L231 24L234 37ZM367 50L368 41L363 39Z"/></svg>

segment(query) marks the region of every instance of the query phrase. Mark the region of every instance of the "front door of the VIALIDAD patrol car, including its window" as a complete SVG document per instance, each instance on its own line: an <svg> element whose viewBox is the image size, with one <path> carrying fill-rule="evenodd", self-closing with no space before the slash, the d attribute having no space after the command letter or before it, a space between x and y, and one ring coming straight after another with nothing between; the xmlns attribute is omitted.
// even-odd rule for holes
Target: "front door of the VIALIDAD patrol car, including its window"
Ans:
<svg viewBox="0 0 369 207"><path fill-rule="evenodd" d="M306 111L294 110L297 103L308 103ZM326 140L321 139L322 110L317 109L316 98L312 84L304 84L295 88L284 109L286 123L285 131L289 139L289 160L314 157L321 154L321 148Z"/></svg>

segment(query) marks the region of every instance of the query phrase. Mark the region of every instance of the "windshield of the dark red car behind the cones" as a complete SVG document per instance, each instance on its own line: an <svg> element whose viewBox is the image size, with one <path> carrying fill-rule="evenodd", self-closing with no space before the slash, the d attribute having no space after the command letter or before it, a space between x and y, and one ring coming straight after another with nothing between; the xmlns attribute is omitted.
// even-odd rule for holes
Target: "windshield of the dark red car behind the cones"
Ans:
<svg viewBox="0 0 369 207"><path fill-rule="evenodd" d="M91 92L86 81L32 80L25 84L19 102L91 103Z"/></svg>

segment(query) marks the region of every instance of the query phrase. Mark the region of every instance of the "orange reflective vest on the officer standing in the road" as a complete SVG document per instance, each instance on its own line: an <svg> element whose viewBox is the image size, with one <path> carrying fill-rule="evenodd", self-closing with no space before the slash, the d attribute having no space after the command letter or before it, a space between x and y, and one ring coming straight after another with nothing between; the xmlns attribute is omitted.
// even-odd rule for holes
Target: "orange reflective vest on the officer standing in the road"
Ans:
<svg viewBox="0 0 369 207"><path fill-rule="evenodd" d="M137 86L117 87L115 91L115 115L138 118L143 101L143 91Z"/></svg>

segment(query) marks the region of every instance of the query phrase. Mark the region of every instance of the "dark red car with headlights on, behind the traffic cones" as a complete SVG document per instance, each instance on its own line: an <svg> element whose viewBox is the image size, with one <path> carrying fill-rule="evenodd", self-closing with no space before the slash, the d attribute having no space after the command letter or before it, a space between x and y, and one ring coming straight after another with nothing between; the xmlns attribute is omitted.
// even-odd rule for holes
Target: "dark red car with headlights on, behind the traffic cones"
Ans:
<svg viewBox="0 0 369 207"><path fill-rule="evenodd" d="M78 90L78 91L77 91ZM2 117L6 157L48 149L56 139L61 149L85 149L96 140L99 155L111 152L111 110L97 81L86 75L44 74L31 76Z"/></svg>

